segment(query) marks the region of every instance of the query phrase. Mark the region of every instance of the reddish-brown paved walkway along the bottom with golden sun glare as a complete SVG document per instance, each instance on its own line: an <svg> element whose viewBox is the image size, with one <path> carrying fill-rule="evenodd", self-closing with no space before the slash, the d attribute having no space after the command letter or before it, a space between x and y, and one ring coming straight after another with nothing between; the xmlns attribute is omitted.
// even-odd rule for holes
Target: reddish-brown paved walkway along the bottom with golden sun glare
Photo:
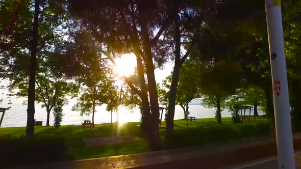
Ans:
<svg viewBox="0 0 301 169"><path fill-rule="evenodd" d="M294 134L301 149L301 134ZM19 168L220 168L277 154L275 138L262 137L174 150L27 166Z"/></svg>

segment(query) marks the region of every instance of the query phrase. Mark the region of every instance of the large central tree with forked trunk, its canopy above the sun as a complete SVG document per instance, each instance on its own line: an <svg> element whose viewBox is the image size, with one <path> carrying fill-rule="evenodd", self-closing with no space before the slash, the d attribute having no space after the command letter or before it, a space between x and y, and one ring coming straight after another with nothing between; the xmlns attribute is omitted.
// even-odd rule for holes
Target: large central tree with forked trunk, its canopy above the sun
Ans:
<svg viewBox="0 0 301 169"><path fill-rule="evenodd" d="M123 79L142 101L143 125L147 126L143 129L146 129L144 133L151 147L160 149L160 113L153 62L156 57L152 50L170 21L169 17L166 18L170 11L169 6L164 6L163 2L69 1L68 7L74 27L77 28L74 30L87 30L98 44L104 58L114 64L116 55L131 52L136 55L140 89L134 87L127 77L123 76ZM159 31L155 33L157 28Z"/></svg>

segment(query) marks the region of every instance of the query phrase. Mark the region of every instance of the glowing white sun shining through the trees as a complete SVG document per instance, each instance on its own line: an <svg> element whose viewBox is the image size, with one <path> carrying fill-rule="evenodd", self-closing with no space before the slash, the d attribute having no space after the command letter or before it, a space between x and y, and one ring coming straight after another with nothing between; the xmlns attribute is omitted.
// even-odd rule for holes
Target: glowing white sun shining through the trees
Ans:
<svg viewBox="0 0 301 169"><path fill-rule="evenodd" d="M135 72L137 65L135 54L122 54L120 58L115 60L115 62L116 65L113 68L113 72L119 76L130 76Z"/></svg>

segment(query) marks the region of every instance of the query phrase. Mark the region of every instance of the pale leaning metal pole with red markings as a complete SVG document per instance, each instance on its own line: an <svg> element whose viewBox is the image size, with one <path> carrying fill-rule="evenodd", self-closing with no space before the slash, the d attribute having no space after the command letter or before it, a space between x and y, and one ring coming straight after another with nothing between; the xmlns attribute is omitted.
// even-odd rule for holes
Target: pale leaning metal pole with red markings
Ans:
<svg viewBox="0 0 301 169"><path fill-rule="evenodd" d="M278 168L295 168L280 0L265 0Z"/></svg>

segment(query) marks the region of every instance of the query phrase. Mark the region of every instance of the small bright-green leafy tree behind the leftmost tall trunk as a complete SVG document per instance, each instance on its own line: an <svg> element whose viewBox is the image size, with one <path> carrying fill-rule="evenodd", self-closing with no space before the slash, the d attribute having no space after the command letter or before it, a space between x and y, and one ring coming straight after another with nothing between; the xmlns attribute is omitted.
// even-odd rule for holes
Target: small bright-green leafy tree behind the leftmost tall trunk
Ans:
<svg viewBox="0 0 301 169"><path fill-rule="evenodd" d="M49 55L52 55L48 53ZM46 57L39 58L39 67L35 77L35 101L43 103L42 108L46 108L47 120L46 126L49 126L49 117L52 109L60 103L61 106L66 104L66 96L76 97L79 91L78 85L67 78L62 72L55 71L54 61ZM19 72L26 64L26 60L15 59L14 71ZM28 62L27 62L28 63ZM17 68L18 67L18 68ZM18 89L16 96L26 97L28 91L28 72L18 73L14 76L11 89Z"/></svg>

